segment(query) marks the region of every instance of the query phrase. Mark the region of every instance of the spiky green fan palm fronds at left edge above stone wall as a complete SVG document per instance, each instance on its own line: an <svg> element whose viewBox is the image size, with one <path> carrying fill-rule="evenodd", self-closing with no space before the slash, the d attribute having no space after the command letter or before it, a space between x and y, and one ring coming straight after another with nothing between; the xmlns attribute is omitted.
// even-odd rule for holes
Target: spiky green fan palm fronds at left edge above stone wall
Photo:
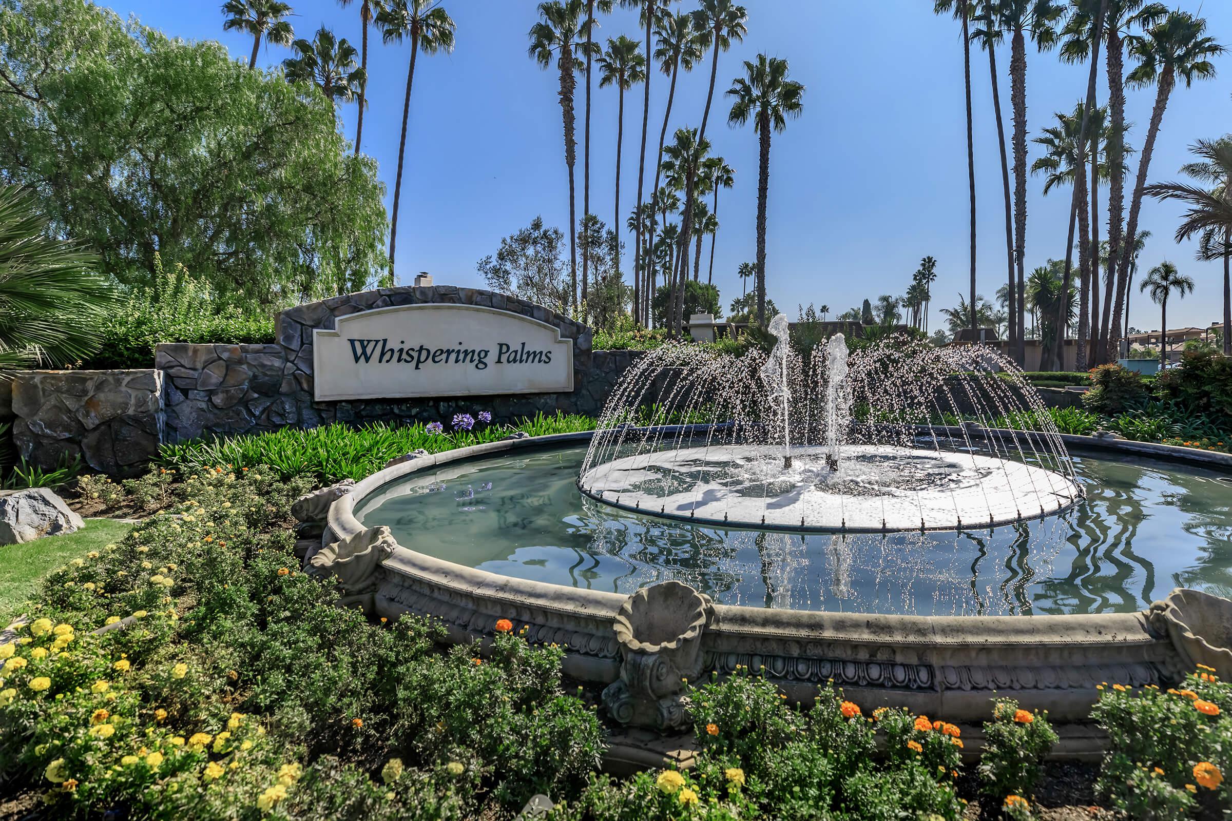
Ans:
<svg viewBox="0 0 1232 821"><path fill-rule="evenodd" d="M99 350L96 322L115 295L97 257L59 239L34 198L0 186L0 379L4 370L60 367Z"/></svg>

